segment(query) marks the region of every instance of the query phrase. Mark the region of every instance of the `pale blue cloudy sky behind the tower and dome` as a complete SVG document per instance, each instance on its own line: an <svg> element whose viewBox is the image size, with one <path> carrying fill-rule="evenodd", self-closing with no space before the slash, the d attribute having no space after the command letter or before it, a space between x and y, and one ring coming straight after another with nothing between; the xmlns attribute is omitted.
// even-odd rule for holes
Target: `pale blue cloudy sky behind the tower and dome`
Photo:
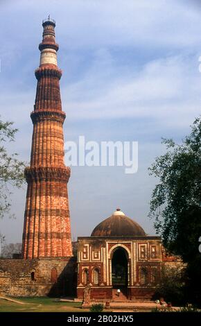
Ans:
<svg viewBox="0 0 201 326"><path fill-rule="evenodd" d="M155 178L148 166L200 115L201 6L182 0L0 1L0 114L19 128L15 150L29 161L42 19L56 21L65 140L139 141L139 171L72 167L72 237L85 236L116 207L155 234L148 218ZM26 187L12 196L0 230L21 241Z"/></svg>

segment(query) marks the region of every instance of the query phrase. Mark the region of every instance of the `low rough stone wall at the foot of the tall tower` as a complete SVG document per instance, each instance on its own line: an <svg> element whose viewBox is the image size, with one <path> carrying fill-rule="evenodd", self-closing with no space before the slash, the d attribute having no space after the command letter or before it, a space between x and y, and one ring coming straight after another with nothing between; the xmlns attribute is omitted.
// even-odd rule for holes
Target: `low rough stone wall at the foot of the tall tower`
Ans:
<svg viewBox="0 0 201 326"><path fill-rule="evenodd" d="M0 259L0 295L76 294L76 259Z"/></svg>

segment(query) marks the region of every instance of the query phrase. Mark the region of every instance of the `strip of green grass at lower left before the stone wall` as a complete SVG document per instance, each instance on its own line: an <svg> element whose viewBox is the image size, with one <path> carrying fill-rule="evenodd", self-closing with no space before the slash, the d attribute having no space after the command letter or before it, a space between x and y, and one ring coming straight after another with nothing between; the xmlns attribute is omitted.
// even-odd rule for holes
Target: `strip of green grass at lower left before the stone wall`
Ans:
<svg viewBox="0 0 201 326"><path fill-rule="evenodd" d="M81 302L55 302L54 298L14 298L24 304L0 299L0 312L82 312Z"/></svg>

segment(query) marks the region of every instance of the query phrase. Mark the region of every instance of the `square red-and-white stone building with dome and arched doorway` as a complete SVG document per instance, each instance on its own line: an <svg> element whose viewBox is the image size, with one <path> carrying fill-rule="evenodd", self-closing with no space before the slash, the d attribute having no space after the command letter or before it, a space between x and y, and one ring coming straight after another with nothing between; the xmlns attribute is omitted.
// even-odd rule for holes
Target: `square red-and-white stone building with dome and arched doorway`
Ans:
<svg viewBox="0 0 201 326"><path fill-rule="evenodd" d="M94 300L114 300L117 289L125 300L151 300L161 267L170 261L161 237L148 236L117 209L91 237L78 237L78 298L89 284Z"/></svg>

